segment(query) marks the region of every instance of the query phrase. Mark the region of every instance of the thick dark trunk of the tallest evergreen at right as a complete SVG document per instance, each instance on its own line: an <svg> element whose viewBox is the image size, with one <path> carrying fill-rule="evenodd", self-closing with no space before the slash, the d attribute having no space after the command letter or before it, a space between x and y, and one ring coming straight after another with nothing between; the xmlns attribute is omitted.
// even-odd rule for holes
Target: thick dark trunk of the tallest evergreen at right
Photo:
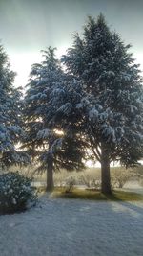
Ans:
<svg viewBox="0 0 143 256"><path fill-rule="evenodd" d="M108 149L104 144L101 146L101 192L103 194L112 194L110 159Z"/></svg>

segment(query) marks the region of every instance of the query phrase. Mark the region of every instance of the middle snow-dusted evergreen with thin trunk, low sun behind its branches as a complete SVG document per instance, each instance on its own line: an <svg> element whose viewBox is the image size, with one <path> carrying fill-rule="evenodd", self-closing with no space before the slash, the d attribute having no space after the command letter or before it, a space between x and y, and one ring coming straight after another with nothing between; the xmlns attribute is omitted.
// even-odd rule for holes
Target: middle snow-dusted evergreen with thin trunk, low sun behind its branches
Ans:
<svg viewBox="0 0 143 256"><path fill-rule="evenodd" d="M67 77L54 57L54 50L49 47L44 51L44 61L32 65L24 111L27 131L24 147L40 163L37 170L46 170L47 190L53 189L53 170L60 167L80 169L84 166L83 141L69 132L72 125L67 118L64 123L72 105L66 102L70 96L66 91Z"/></svg>

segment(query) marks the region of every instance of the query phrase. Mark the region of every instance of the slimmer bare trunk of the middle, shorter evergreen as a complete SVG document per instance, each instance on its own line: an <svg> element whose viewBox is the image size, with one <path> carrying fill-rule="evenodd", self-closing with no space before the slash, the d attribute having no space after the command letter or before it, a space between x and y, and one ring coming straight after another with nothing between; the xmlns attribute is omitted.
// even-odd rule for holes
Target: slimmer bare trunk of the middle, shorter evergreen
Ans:
<svg viewBox="0 0 143 256"><path fill-rule="evenodd" d="M48 159L48 167L47 167L47 187L46 191L51 191L54 188L53 184L53 159L49 157Z"/></svg>

